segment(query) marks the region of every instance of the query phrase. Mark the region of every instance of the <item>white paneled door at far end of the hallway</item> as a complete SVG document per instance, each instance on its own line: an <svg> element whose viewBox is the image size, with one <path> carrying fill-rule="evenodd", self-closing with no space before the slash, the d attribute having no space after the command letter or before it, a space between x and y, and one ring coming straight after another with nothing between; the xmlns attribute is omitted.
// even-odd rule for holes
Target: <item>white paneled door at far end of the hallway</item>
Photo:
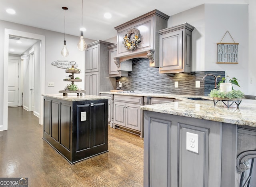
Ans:
<svg viewBox="0 0 256 187"><path fill-rule="evenodd" d="M18 106L19 60L8 62L8 107Z"/></svg>

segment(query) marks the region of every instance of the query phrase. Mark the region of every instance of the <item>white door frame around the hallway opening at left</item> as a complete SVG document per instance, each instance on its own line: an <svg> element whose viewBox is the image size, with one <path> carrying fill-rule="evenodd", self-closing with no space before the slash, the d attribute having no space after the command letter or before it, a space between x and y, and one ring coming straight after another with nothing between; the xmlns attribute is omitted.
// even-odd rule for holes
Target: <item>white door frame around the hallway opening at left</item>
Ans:
<svg viewBox="0 0 256 187"><path fill-rule="evenodd" d="M45 94L45 36L40 34L34 34L29 32L22 32L19 30L12 30L12 29L4 29L4 87L3 87L3 121L0 125L0 130L7 130L8 129L8 58L9 58L9 36L20 36L24 38L31 38L40 40L40 117L39 117L39 124L43 124L43 113L44 113L44 105L43 105L43 96Z"/></svg>

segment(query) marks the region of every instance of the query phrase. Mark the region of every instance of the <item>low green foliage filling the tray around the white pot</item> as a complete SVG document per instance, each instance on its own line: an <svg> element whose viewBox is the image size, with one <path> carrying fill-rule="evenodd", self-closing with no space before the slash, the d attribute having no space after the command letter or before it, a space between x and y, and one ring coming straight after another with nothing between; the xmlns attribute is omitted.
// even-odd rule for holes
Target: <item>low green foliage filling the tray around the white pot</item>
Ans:
<svg viewBox="0 0 256 187"><path fill-rule="evenodd" d="M210 97L228 98L228 99L234 99L234 98L240 99L244 97L244 93L241 92L240 90L232 90L231 92L220 92L220 90L213 89L208 95Z"/></svg>

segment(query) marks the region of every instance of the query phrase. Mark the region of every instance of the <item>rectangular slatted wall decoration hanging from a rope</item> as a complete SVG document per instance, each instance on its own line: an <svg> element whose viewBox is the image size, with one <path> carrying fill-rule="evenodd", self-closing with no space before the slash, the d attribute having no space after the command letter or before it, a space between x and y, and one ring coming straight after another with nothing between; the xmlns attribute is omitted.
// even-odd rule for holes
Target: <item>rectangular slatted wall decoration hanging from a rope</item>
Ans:
<svg viewBox="0 0 256 187"><path fill-rule="evenodd" d="M228 30L222 37L220 43L217 43L217 55L218 55L218 61L217 64L238 64L238 44L235 40L232 38L234 43L222 43L223 38L226 36L226 34L230 33Z"/></svg>

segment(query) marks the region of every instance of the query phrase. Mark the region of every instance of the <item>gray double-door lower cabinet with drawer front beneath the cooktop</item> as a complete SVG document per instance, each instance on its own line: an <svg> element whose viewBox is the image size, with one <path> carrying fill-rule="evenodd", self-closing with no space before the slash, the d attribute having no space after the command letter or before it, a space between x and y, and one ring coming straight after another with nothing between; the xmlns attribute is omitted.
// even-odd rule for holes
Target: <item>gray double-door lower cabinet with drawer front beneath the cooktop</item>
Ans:
<svg viewBox="0 0 256 187"><path fill-rule="evenodd" d="M114 127L124 127L142 136L142 98L114 95Z"/></svg>

